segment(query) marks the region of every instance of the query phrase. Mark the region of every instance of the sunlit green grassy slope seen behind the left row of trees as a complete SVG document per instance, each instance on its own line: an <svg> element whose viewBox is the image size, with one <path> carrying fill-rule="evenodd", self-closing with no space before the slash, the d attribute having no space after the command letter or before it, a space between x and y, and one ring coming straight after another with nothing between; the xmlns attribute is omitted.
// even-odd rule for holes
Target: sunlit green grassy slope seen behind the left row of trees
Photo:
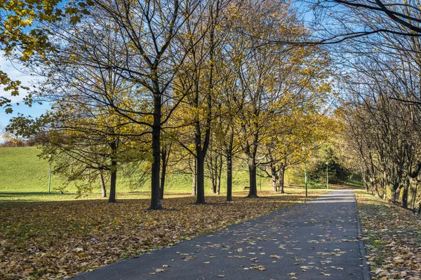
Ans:
<svg viewBox="0 0 421 280"><path fill-rule="evenodd" d="M65 193L72 193L71 196L57 195L63 184L66 183L65 178L58 174L51 177L51 191L55 196L48 195L48 161L37 157L39 150L36 147L19 147L19 148L0 148L0 200L42 200L41 196L45 196L46 200L56 200L63 198L74 199L77 188L74 184L70 184L65 188ZM117 181L117 193L149 195L149 181L142 186L135 186L129 183L130 179L123 178L119 174ZM244 186L248 186L248 172L241 162L237 162L234 170L233 191L241 191ZM258 186L260 181L258 179ZM100 186L93 186L93 198L98 198L100 194ZM210 194L210 181L206 180L206 193ZM221 191L224 192L225 172L222 174ZM271 190L270 179L262 179L262 190ZM168 194L190 194L192 192L192 176L190 174L168 174L166 180L166 193ZM48 195L48 196L46 196ZM18 198L17 198L18 197ZM121 197L121 195L120 195Z"/></svg>

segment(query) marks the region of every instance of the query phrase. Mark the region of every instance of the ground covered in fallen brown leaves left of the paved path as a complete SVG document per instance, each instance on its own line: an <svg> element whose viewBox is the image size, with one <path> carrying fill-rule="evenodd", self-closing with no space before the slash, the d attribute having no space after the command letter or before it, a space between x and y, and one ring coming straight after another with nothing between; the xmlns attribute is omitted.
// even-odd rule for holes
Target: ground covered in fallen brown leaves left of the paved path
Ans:
<svg viewBox="0 0 421 280"><path fill-rule="evenodd" d="M234 197L232 203L226 203L225 197L208 197L206 205L192 204L192 197L166 199L163 211L147 211L149 200L3 204L0 279L72 276L255 218L304 198L260 195L266 197Z"/></svg>

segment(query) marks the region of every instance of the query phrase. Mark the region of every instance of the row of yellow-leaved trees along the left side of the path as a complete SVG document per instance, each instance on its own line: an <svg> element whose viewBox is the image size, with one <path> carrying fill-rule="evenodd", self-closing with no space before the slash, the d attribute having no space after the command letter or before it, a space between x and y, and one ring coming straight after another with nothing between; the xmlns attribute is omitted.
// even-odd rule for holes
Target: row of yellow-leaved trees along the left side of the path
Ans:
<svg viewBox="0 0 421 280"><path fill-rule="evenodd" d="M27 66L41 78L32 98L53 104L9 130L44 137L69 179L104 182L115 201L120 167L149 172L151 209L161 208L168 165L189 165L196 203L205 202L232 159L283 191L283 174L308 157L333 127L330 57L317 46L277 41L311 34L287 1L92 1L82 18L50 22L53 49ZM152 151L151 151L152 148ZM60 155L60 156L58 156ZM206 160L207 159L207 160ZM107 175L108 176L108 175Z"/></svg>

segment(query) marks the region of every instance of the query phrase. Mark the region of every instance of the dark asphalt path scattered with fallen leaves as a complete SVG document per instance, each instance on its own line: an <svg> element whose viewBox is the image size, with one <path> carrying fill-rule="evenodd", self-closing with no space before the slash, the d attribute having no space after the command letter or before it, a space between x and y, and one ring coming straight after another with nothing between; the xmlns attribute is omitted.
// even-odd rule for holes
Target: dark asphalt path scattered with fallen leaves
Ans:
<svg viewBox="0 0 421 280"><path fill-rule="evenodd" d="M357 224L354 191L333 190L75 279L368 279Z"/></svg>

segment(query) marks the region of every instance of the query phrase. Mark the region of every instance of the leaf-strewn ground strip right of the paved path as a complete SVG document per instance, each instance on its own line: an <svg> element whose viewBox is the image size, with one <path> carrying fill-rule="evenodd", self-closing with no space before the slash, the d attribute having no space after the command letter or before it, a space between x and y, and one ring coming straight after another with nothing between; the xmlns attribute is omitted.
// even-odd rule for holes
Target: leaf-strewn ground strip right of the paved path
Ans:
<svg viewBox="0 0 421 280"><path fill-rule="evenodd" d="M421 279L418 214L356 191L372 279Z"/></svg>

